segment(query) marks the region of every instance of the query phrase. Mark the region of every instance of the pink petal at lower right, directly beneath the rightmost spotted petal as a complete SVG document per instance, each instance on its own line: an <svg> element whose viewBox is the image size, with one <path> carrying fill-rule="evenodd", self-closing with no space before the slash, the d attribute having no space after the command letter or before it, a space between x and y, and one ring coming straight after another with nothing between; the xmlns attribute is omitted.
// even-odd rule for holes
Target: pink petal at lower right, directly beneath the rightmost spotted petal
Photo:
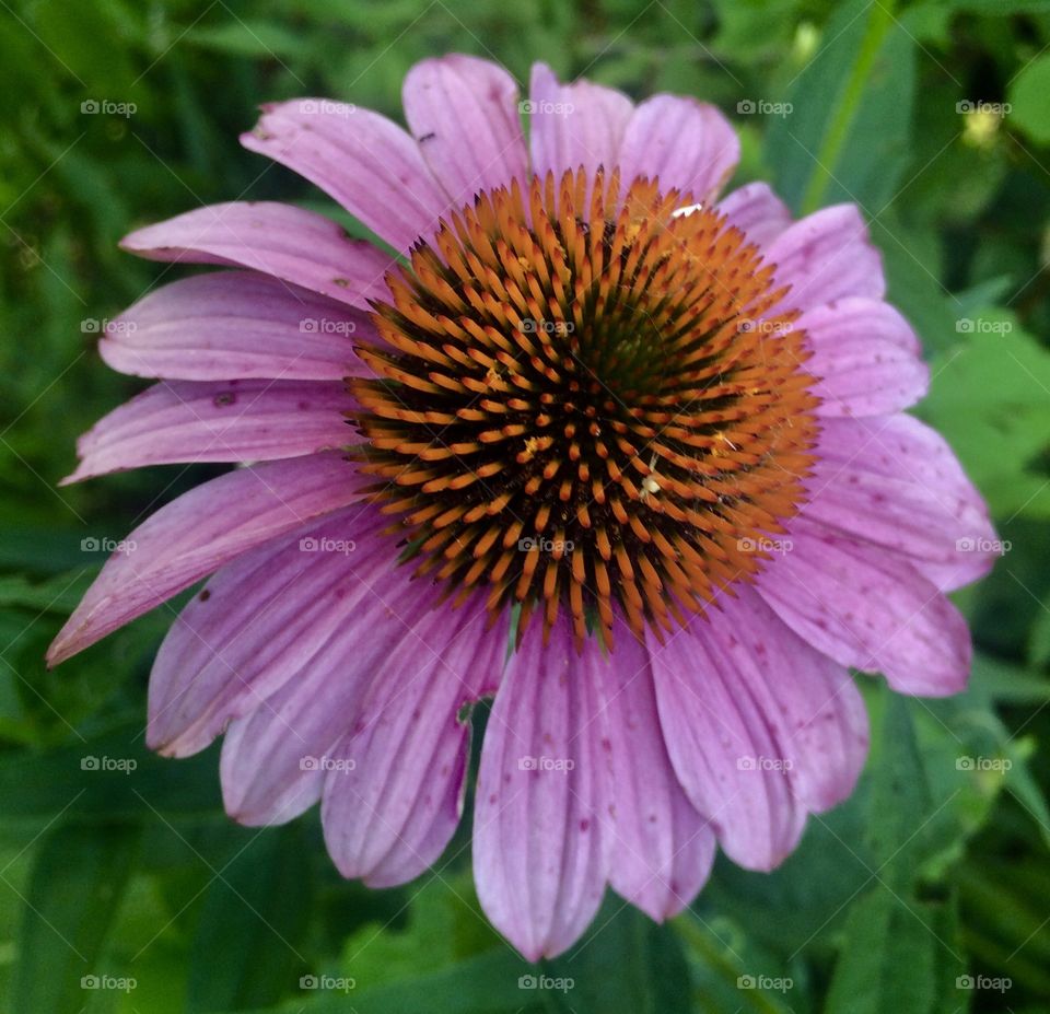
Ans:
<svg viewBox="0 0 1050 1014"><path fill-rule="evenodd" d="M773 610L842 665L882 672L901 694L943 697L965 689L966 620L896 555L795 517L791 551L759 575Z"/></svg>

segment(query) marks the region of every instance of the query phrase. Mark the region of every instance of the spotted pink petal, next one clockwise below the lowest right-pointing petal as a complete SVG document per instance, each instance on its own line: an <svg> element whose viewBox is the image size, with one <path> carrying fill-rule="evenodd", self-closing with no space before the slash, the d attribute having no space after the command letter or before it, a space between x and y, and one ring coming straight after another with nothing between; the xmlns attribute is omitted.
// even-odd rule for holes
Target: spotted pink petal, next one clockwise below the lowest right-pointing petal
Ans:
<svg viewBox="0 0 1050 1014"><path fill-rule="evenodd" d="M849 672L795 634L754 588L736 592L719 599L722 662L773 731L800 802L812 813L829 809L850 795L864 767L864 699Z"/></svg>

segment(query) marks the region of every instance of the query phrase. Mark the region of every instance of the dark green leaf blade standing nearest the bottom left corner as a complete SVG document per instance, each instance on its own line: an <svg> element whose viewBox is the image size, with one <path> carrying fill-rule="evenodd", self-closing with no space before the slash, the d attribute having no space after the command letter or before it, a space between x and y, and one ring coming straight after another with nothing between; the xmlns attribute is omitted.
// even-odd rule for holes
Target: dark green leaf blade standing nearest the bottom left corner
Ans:
<svg viewBox="0 0 1050 1014"><path fill-rule="evenodd" d="M25 898L13 1010L78 1014L95 989L110 988L105 946L137 844L122 825L59 825L45 836Z"/></svg>

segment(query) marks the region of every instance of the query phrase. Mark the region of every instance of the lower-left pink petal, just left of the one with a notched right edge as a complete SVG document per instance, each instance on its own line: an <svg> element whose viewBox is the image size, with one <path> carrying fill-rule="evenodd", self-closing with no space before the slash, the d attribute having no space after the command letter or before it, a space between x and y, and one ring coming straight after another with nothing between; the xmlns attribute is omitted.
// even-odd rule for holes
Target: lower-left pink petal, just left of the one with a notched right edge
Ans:
<svg viewBox="0 0 1050 1014"><path fill-rule="evenodd" d="M433 603L428 582L411 571L362 578L370 585L357 608L340 609L347 636L226 732L222 796L242 824L279 824L313 805L326 776L337 770L339 744L353 727L386 660ZM295 593L293 593L295 594ZM419 648L417 642L417 649Z"/></svg>

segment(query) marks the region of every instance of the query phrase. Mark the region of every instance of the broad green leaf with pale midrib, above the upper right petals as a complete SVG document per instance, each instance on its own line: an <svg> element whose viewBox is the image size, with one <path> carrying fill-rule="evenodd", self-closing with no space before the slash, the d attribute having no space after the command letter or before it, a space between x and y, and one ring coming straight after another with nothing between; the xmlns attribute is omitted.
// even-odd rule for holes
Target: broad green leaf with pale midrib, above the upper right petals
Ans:
<svg viewBox="0 0 1050 1014"><path fill-rule="evenodd" d="M877 214L909 161L914 43L890 0L843 3L766 138L778 193L796 212L856 201Z"/></svg>

